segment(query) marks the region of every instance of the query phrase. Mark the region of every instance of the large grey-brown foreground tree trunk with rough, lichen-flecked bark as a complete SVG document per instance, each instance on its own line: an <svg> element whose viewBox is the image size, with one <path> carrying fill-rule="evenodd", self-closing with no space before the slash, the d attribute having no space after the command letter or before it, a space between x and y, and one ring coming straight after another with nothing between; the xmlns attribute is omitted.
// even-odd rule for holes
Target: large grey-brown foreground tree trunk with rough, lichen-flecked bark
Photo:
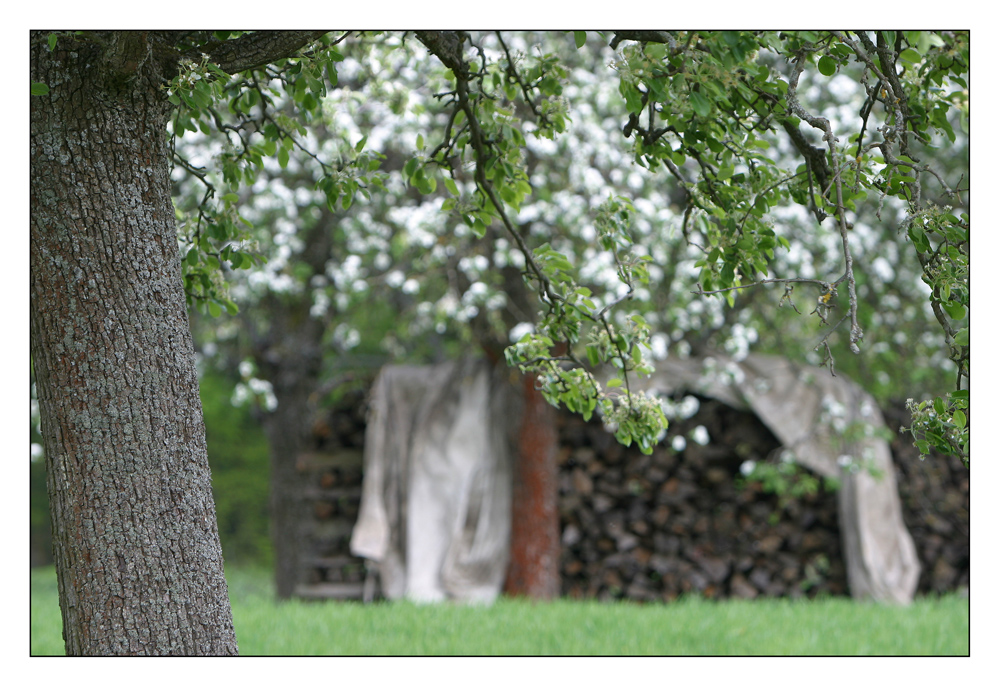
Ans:
<svg viewBox="0 0 1000 687"><path fill-rule="evenodd" d="M33 34L31 356L67 654L235 654L144 34Z"/></svg>

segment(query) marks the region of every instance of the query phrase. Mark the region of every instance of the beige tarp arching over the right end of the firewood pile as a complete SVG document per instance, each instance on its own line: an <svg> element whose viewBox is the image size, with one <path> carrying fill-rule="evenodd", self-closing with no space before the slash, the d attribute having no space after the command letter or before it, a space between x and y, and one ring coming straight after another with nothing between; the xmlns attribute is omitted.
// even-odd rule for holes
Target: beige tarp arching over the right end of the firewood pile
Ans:
<svg viewBox="0 0 1000 687"><path fill-rule="evenodd" d="M874 399L844 377L782 358L723 355L668 358L632 388L688 390L751 410L792 459L840 480L840 530L847 581L856 599L909 603L920 563L903 523L889 444L864 427L883 428Z"/></svg>

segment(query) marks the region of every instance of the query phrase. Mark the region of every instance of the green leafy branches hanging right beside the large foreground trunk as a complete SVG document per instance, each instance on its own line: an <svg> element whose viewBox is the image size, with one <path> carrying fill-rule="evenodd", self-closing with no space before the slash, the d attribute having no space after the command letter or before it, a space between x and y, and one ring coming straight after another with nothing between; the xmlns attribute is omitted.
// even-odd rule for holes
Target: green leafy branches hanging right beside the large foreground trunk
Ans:
<svg viewBox="0 0 1000 687"><path fill-rule="evenodd" d="M269 32L235 39L221 37L219 40L224 43L219 43L211 54L203 52L198 60L181 60L177 75L164 85L167 98L175 107L171 140L174 165L205 188L201 201L191 210L196 218L189 221L186 213L178 210L182 219L180 233L188 244L183 265L189 304L198 304L212 315L220 314L223 308L235 312L236 306L228 297L218 270L250 268L264 262L249 240L247 230L251 224L240 216L237 208L240 188L256 180L265 158L276 158L280 167L285 168L291 152L298 150L318 164L322 174L316 185L326 195L331 209L338 203L343 208L349 207L355 193L367 195L370 184L382 184L383 175L377 172L381 156L362 152L364 140L349 151L346 159L342 157L334 164L304 142L307 131L302 124L281 114L282 109L292 108L313 118L322 114L322 99L336 83L336 64L343 60L334 46L347 35L335 40L322 32L291 32L283 37ZM224 55L220 57L219 51L230 43L245 44L251 37L260 45L280 49L283 59L271 59L230 75L226 68L243 65L240 61L243 58L227 61ZM318 42L298 57L285 53L292 44L316 39ZM209 44L202 43L204 49L209 49L206 47ZM218 103L226 107L219 107ZM224 134L223 141L227 144L219 156L222 187L205 169L178 154L175 146L175 139L185 132L209 134L212 130Z"/></svg>

